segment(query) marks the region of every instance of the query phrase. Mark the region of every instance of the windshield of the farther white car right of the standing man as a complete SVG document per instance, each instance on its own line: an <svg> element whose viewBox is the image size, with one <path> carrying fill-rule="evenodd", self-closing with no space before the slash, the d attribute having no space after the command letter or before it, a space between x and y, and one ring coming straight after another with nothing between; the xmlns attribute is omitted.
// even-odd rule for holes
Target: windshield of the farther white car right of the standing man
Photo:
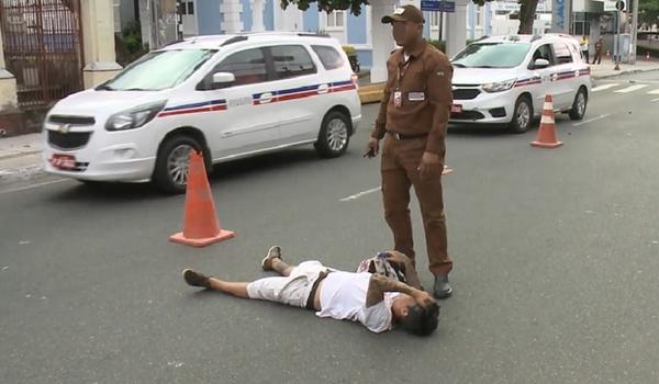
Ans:
<svg viewBox="0 0 659 384"><path fill-rule="evenodd" d="M528 43L474 43L451 63L459 68L513 68L522 64L529 48Z"/></svg>

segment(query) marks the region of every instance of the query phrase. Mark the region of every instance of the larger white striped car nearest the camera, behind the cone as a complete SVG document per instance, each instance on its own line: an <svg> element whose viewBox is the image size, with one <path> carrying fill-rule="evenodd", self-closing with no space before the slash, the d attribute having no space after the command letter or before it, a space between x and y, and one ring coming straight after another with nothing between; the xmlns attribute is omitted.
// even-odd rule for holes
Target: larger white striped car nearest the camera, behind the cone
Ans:
<svg viewBox="0 0 659 384"><path fill-rule="evenodd" d="M305 144L336 157L360 120L357 78L334 38L200 36L55 104L44 122L44 162L49 173L82 181L153 180L180 193L192 148L208 169Z"/></svg>

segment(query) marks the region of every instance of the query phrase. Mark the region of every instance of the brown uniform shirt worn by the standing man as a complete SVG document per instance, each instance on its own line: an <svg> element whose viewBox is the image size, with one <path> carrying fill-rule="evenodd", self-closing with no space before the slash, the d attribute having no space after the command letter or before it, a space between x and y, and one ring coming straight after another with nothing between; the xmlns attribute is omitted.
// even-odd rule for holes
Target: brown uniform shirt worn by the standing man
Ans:
<svg viewBox="0 0 659 384"><path fill-rule="evenodd" d="M403 49L394 50L387 60L387 86L380 102L372 137L382 138L386 131L401 135L428 134L426 151L444 156L446 126L453 103L453 66L446 56L423 42L410 53L405 63ZM400 106L394 101L400 93Z"/></svg>

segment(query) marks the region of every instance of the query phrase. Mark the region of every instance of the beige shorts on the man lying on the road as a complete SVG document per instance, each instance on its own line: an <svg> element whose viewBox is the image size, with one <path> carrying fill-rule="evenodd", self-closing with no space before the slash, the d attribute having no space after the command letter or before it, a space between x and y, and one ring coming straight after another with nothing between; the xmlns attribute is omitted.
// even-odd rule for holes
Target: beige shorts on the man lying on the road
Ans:
<svg viewBox="0 0 659 384"><path fill-rule="evenodd" d="M293 268L290 276L265 278L249 283L247 294L249 298L305 307L313 283L325 270L327 268L320 261L304 261Z"/></svg>

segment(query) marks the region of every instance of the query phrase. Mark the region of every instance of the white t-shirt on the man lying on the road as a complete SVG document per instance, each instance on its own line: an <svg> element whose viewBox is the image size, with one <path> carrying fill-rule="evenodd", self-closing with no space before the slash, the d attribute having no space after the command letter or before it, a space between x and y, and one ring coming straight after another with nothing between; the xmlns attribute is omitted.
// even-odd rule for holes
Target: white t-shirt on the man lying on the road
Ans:
<svg viewBox="0 0 659 384"><path fill-rule="evenodd" d="M383 332L392 327L391 305L400 295L386 292L384 300L366 307L366 292L371 274L368 272L332 272L321 287L321 310L319 317L332 317L339 320L359 321L373 332Z"/></svg>

